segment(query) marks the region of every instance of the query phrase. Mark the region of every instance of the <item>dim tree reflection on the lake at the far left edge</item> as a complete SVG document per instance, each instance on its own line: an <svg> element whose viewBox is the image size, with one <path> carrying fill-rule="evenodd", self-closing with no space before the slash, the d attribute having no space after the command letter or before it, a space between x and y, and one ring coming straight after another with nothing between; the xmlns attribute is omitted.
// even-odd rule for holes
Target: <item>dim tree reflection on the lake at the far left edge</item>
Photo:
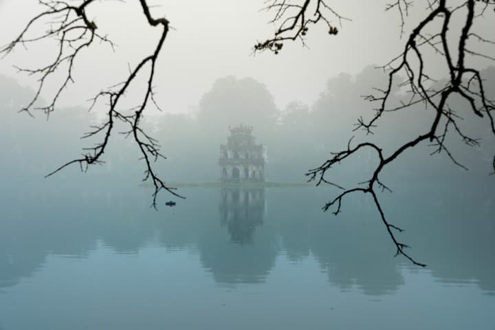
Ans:
<svg viewBox="0 0 495 330"><path fill-rule="evenodd" d="M34 190L1 192L1 200L6 203L0 221L0 287L31 276L45 263L49 252L81 256L94 248L95 241L87 241L87 235L78 235L74 230L59 234L67 225L74 225L74 218L56 218L61 210L58 201L53 201L56 206L50 205L46 195ZM36 208L25 207L30 200L38 201Z"/></svg>

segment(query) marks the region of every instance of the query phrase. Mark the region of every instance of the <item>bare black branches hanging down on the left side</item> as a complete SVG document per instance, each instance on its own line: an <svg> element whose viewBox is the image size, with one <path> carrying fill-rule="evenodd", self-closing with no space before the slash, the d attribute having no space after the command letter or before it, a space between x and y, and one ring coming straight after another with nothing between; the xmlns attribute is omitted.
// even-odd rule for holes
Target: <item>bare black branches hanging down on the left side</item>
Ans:
<svg viewBox="0 0 495 330"><path fill-rule="evenodd" d="M74 82L72 79L72 69L76 59L80 57L80 51L85 47L91 47L95 41L108 43L113 47L113 43L107 38L96 32L98 29L96 23L91 21L86 14L86 9L89 5L93 5L98 1L85 0L80 5L71 5L69 1L56 1L56 0L40 0L39 3L45 7L45 11L38 14L31 19L25 26L24 30L17 36L14 41L5 45L0 52L7 55L14 50L15 47L20 45L26 46L30 43L36 43L39 41L45 41L47 39L53 39L58 42L58 53L53 61L45 67L39 67L36 69L21 69L20 72L27 72L35 76L39 76L39 85L32 101L27 107L21 109L32 115L32 109L41 109L46 115L50 115L54 111L56 102L59 96L66 89L69 82ZM162 50L162 45L168 34L168 21L164 18L154 19L151 16L150 7L146 0L140 0L140 5L146 17L146 21L153 27L158 27L162 30L159 39L156 43L155 50L152 54L143 58L140 63L134 69L129 69L129 76L122 83L104 89L98 93L93 99L90 109L92 109L98 102L102 100L107 101L107 119L98 126L93 126L92 131L89 131L83 138L101 136L102 140L96 146L85 148L85 153L77 159L73 159L62 166L56 168L56 170L48 173L46 177L54 175L58 171L62 170L72 164L79 164L81 170L86 171L90 165L102 164L103 154L107 150L111 134L115 130L115 121L123 122L129 125L129 130L124 132L126 136L132 136L141 153L141 159L144 160L145 170L143 181L151 181L155 188L153 192L152 206L157 207L157 195L161 190L166 190L176 197L182 197L175 190L176 188L169 187L153 169L152 163L156 162L159 157L166 158L160 153L160 146L153 137L148 135L140 126L140 120L143 116L143 111L151 101L156 107L157 104L153 98L153 78L155 76L155 67L159 52ZM38 36L28 38L27 34L32 30L32 25L39 22L50 23L50 28ZM55 96L49 102L47 106L34 107L36 101L40 98L43 85L49 80L59 69L64 69L64 65L67 67L67 74L63 79L60 87L56 91ZM145 85L145 94L139 106L131 109L131 114L126 114L119 110L120 100L129 90L129 85L135 79L137 74L143 72L146 67L149 68L148 79Z"/></svg>

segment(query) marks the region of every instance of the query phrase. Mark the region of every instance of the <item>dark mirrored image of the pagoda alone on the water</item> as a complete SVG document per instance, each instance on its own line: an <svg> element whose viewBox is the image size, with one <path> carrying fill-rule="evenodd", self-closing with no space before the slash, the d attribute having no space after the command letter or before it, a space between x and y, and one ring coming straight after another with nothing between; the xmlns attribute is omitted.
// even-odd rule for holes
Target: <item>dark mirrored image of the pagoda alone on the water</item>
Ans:
<svg viewBox="0 0 495 330"><path fill-rule="evenodd" d="M263 224L265 216L265 189L224 187L219 210L221 223L227 226L232 242L252 242L254 228Z"/></svg>

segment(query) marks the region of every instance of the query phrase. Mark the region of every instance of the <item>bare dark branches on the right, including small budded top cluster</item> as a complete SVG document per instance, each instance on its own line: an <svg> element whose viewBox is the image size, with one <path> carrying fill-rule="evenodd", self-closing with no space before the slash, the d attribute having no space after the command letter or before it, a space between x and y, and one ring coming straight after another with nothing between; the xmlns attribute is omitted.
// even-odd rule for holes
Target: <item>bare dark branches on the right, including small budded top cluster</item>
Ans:
<svg viewBox="0 0 495 330"><path fill-rule="evenodd" d="M282 48L281 41L287 39L303 40L303 36L307 33L307 25L318 23L322 20L330 28L332 34L332 27L328 19L322 19L321 8L326 8L329 13L338 19L342 19L339 14L334 10L331 10L325 2L320 0L305 0L300 1L303 4L294 5L289 4L288 1L275 0L267 9L275 12L272 22L281 22L280 28L275 32L272 39L267 39L263 43L258 43L254 46L255 51L271 50L277 53ZM397 9L401 19L400 36L404 34L404 22L408 16L408 10L413 1L397 0L386 5L385 10ZM316 6L317 10L314 12L313 18L308 18L308 8ZM355 126L354 131L364 130L366 134L373 133L373 129L377 126L380 118L390 111L400 111L408 109L415 104L422 103L426 107L434 111L434 119L431 122L431 126L426 129L423 134L415 137L414 139L402 144L389 155L385 155L380 146L371 142L360 143L357 146L351 147L351 140L347 145L347 149L344 151L338 151L332 153L332 157L324 162L322 165L313 168L307 172L309 181L316 181L316 185L319 186L322 183L331 184L340 190L340 194L333 200L323 206L323 210L335 206L336 210L333 214L341 212L342 199L353 192L369 193L373 197L375 206L380 213L380 219L384 223L386 230L391 237L395 247L397 248L396 256L402 255L409 259L415 265L425 267L426 265L413 259L406 251L405 248L409 248L408 245L397 241L395 232L402 232L403 230L385 217L382 205L377 197L376 189L391 191L387 186L382 184L379 179L382 170L387 164L393 162L408 149L413 148L424 141L429 141L431 146L434 146L433 153L441 153L444 151L448 157L461 168L467 170L465 166L460 164L454 155L445 146L445 138L452 132L459 135L463 142L468 146L479 146L480 141L476 138L469 137L463 131L458 124L462 118L451 109L449 101L454 96L460 97L467 101L469 104L472 115L479 118L486 118L489 123L489 127L495 135L495 102L489 100L485 95L485 86L480 73L474 67L470 67L466 61L466 56L481 57L489 60L494 60L493 56L488 54L482 54L476 52L470 48L467 41L468 39L474 39L475 41L487 44L494 44L494 41L480 36L476 32L472 31L472 25L476 18L483 16L487 8L495 8L495 1L483 0L483 1L463 1L463 3L457 7L449 7L446 0L434 0L429 1L428 12L419 23L412 29L408 38L405 40L404 50L393 58L391 61L382 66L382 69L388 72L388 85L386 89L376 89L379 94L372 94L365 96L366 100L377 103L375 108L375 115L370 120L364 120L359 118L358 123ZM289 10L292 10L290 14ZM295 14L294 14L295 12ZM453 14L463 15L463 26L459 36L452 36L448 34L448 30L452 28L451 18ZM441 21L439 30L434 34L428 34L427 28L433 25L434 21ZM454 30L452 28L452 30ZM335 31L337 32L337 31ZM456 45L454 50L457 54L452 54L451 45ZM426 58L425 53L427 48L432 49L436 54L440 54L448 66L448 79L443 82L437 82L430 78L426 67L430 63L429 58ZM397 85L395 81L401 81L399 74L406 76L406 81L399 84L401 88L407 88L410 93L408 102L402 102L401 105L392 106L391 94L393 87ZM371 148L377 153L377 157L380 160L373 171L373 175L369 181L366 181L366 187L354 187L343 188L339 184L333 181L325 179L327 171L334 165L339 164L342 160L352 157L364 148ZM493 168L495 171L495 157L493 162ZM495 173L495 172L494 172ZM492 173L492 174L494 174Z"/></svg>

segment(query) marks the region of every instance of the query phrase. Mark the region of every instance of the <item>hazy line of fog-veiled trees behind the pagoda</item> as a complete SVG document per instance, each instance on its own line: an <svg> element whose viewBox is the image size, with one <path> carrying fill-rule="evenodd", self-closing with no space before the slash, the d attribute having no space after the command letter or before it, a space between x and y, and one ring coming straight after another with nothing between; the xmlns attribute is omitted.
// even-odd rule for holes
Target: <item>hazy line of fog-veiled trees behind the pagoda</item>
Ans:
<svg viewBox="0 0 495 330"><path fill-rule="evenodd" d="M490 82L495 81L495 69L489 67L481 74L487 80L487 92L494 93L494 85ZM29 102L34 91L5 76L1 77L0 83L4 100L3 122L6 123L1 135L3 149L8 151L5 155L9 155L5 158L8 162L3 162L2 166L9 168L11 173L19 177L36 173L41 177L77 157L82 148L98 141L97 137L80 139L89 130L89 125L100 121L96 113L88 113L83 107L67 107L53 113L49 120L41 113L30 118L25 113L17 113L17 110ZM388 114L373 135L353 131L361 115L371 116L373 113L369 109L370 103L360 96L368 91L370 85L384 83L386 76L371 65L355 76L339 74L329 78L313 103L305 104L296 99L284 109L278 109L274 96L260 81L225 76L215 80L203 92L194 113L146 115L144 128L162 144L167 159L161 159L156 168L167 181L217 181L219 146L230 135L229 127L245 124L253 127L256 142L267 149L267 180L302 183L307 180L305 173L309 168L325 161L332 151L347 146L351 137L354 137L353 143L369 140L384 148L385 153L391 153L400 144L428 129L432 112L418 104ZM399 90L394 96L397 100L404 97ZM460 113L465 112L460 109ZM456 159L470 168L469 173L454 165L445 153L430 157L434 148L421 144L398 159L397 165L392 164L385 174L397 182L413 178L415 182L428 182L435 176L470 177L483 181L491 170L494 137L488 125L478 118L468 117L461 125L467 135L481 139L481 147L467 146L455 135L447 141ZM119 129L124 131L124 126ZM105 173L106 177L139 182L144 166L139 157L133 141L117 134L105 154L107 164L91 166L89 173L78 175L75 173L79 168L74 166L60 175L72 173L84 177ZM371 152L356 155L338 166L331 175L340 182L346 182L349 177L356 178L356 175L359 176L357 180L366 179L375 162L377 159Z"/></svg>

